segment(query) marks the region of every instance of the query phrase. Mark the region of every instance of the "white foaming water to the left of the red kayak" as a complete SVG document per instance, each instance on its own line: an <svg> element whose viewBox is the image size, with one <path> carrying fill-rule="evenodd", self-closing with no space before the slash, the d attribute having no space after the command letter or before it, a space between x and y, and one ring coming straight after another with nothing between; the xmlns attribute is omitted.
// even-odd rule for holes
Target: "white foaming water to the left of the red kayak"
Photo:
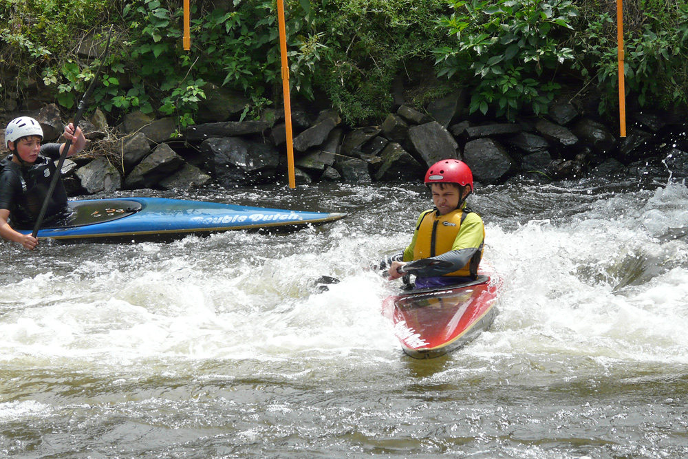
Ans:
<svg viewBox="0 0 688 459"><path fill-rule="evenodd" d="M0 359L281 359L393 344L379 314L383 282L376 275L347 277L322 295L309 290L310 279L331 273L327 255L239 259L224 267L173 256L151 266L158 248L142 248L144 255L125 264L87 261L67 275L6 286L8 296L11 290L23 297L0 321ZM347 250L333 248L331 255ZM357 269L342 260L343 269Z"/></svg>

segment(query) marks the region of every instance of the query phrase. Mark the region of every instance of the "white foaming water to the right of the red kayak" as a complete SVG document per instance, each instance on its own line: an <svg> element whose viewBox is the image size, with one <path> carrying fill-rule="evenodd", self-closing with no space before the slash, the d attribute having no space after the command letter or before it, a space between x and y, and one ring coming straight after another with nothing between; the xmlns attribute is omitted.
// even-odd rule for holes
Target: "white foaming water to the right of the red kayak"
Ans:
<svg viewBox="0 0 688 459"><path fill-rule="evenodd" d="M659 239L685 220L684 184L594 202L564 221L488 228L505 279L486 347L688 363L688 246Z"/></svg>

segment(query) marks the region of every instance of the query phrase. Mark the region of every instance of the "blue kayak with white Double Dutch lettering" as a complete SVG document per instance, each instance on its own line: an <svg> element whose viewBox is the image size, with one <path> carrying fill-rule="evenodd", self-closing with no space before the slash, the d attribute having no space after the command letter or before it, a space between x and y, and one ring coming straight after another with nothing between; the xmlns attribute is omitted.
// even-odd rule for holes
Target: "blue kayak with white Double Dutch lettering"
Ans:
<svg viewBox="0 0 688 459"><path fill-rule="evenodd" d="M299 228L334 222L346 215L165 198L83 200L67 204L70 215L55 224L44 224L39 238L183 237L191 233ZM18 231L31 233L30 229Z"/></svg>

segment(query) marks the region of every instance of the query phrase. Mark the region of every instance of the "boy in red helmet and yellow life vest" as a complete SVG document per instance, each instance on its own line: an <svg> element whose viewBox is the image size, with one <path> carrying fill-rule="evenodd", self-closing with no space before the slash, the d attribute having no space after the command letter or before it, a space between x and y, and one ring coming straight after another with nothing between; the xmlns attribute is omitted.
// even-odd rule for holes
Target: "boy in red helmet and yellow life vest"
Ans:
<svg viewBox="0 0 688 459"><path fill-rule="evenodd" d="M413 270L415 288L443 287L477 279L485 227L480 215L466 207L473 192L473 173L459 160L442 160L425 174L435 209L424 211L416 222L411 244L390 257L389 280L404 275L399 268L420 259L444 261ZM427 260L426 260L427 264Z"/></svg>

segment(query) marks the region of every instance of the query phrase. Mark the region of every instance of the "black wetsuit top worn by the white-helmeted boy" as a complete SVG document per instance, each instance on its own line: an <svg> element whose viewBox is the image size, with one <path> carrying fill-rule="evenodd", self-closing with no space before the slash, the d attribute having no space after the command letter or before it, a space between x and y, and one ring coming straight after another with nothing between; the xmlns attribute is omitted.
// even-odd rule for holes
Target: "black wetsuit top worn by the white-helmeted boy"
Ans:
<svg viewBox="0 0 688 459"><path fill-rule="evenodd" d="M0 209L10 211L12 226L30 229L41 212L45 195L60 158L60 144L41 145L41 154L33 164L12 162L12 155L0 162ZM45 222L52 222L67 213L67 191L58 180L45 212Z"/></svg>

